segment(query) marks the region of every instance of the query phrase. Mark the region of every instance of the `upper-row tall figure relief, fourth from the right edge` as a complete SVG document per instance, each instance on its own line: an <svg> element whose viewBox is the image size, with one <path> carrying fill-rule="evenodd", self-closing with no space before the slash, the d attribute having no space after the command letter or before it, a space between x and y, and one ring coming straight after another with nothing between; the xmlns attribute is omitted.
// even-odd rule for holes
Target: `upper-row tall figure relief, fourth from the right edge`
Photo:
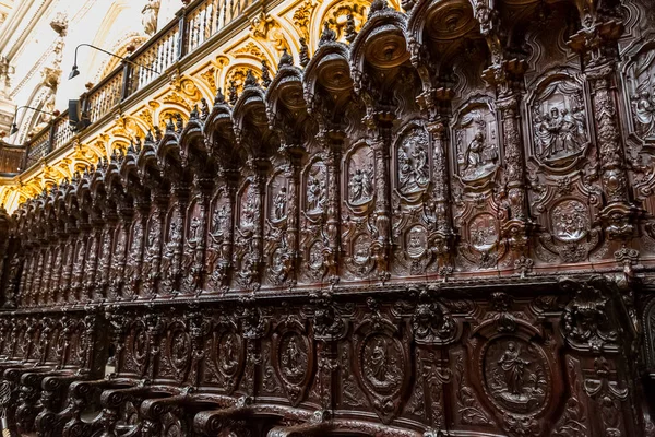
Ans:
<svg viewBox="0 0 655 437"><path fill-rule="evenodd" d="M397 150L398 191L402 194L421 192L430 181L428 137L422 129L407 133Z"/></svg>

